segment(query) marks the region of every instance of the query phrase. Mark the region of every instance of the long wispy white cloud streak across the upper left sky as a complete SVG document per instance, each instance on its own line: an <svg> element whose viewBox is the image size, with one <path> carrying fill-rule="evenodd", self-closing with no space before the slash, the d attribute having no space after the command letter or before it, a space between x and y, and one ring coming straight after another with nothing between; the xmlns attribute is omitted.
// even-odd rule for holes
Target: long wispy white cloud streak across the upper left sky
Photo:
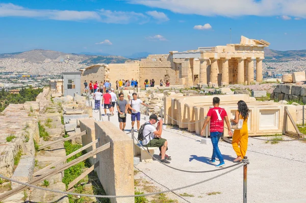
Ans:
<svg viewBox="0 0 306 203"><path fill-rule="evenodd" d="M0 17L29 17L44 18L53 20L96 20L106 23L145 23L149 17L142 13L96 10L96 11L68 11L68 10L44 10L44 9L28 9L14 4L0 3Z"/></svg>

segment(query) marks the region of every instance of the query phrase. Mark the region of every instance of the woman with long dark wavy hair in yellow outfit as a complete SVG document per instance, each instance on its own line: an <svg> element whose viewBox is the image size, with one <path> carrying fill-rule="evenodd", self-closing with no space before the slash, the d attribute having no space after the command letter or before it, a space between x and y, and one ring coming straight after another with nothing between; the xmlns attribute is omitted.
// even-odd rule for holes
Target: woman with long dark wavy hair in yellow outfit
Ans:
<svg viewBox="0 0 306 203"><path fill-rule="evenodd" d="M234 162L241 162L245 157L248 141L248 130L247 130L247 118L249 115L249 109L243 100L238 103L238 111L235 113L235 119L231 119L231 122L238 123L239 119L243 119L242 129L235 130L233 135L232 145L237 154L237 158Z"/></svg>

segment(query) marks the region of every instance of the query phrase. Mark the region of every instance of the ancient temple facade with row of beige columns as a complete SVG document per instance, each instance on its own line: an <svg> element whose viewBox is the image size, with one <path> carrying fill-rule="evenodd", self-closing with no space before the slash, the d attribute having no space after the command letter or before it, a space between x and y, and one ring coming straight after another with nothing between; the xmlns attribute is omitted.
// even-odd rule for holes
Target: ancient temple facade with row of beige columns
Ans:
<svg viewBox="0 0 306 203"><path fill-rule="evenodd" d="M170 52L170 55L174 66L180 69L180 84L185 86L251 84L254 82L254 64L256 81L263 80L264 47L269 44L241 36L239 44L199 47L186 52Z"/></svg>

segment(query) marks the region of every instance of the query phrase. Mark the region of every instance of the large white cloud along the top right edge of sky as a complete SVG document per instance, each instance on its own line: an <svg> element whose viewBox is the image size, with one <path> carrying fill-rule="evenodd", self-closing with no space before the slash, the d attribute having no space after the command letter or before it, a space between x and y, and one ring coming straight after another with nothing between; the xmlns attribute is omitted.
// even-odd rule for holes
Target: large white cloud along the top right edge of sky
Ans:
<svg viewBox="0 0 306 203"><path fill-rule="evenodd" d="M151 8L170 10L174 13L203 16L237 17L245 15L280 16L306 18L304 0L125 0Z"/></svg>

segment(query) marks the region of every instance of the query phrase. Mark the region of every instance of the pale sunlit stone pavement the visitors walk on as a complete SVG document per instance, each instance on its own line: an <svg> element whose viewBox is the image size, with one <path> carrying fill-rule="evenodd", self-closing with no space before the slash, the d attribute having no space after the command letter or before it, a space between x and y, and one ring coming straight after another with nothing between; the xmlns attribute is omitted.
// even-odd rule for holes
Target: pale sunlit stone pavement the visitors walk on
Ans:
<svg viewBox="0 0 306 203"><path fill-rule="evenodd" d="M104 110L101 109L104 113ZM110 117L119 128L117 112ZM93 112L95 119L99 119L98 113ZM108 116L102 116L107 120ZM148 116L141 115L141 123L148 120ZM212 154L211 144L201 144L201 137L170 126L163 126L162 137L169 142L167 154L171 156L171 166L185 170L212 170L216 169L209 162ZM127 115L126 133L131 129L131 116ZM134 126L136 130L136 123ZM131 134L127 134L131 136ZM137 133L135 133L137 137ZM262 137L264 138L264 137ZM284 136L284 139L289 139ZM236 154L230 143L221 141L219 144L226 166L230 166L236 158ZM265 143L262 140L249 138L247 156L250 161L247 176L247 200L248 202L277 202L291 200L293 202L305 202L304 191L306 182L302 169L306 167L306 143L300 141L279 142L277 144ZM155 156L159 150L155 150ZM158 157L158 156L157 156ZM221 174L228 169L210 173L186 173L168 168L157 161L140 163L135 166L146 175L170 189L190 185L210 177ZM135 175L135 179L145 179L160 191L166 188L148 179L143 173ZM220 194L209 195L211 192ZM145 193L148 193L145 191ZM243 198L243 168L239 168L212 181L176 191L176 194L187 193L193 197L184 196L189 202L242 202ZM183 198L173 193L167 193L171 199L186 202ZM297 200L299 199L299 200Z"/></svg>

